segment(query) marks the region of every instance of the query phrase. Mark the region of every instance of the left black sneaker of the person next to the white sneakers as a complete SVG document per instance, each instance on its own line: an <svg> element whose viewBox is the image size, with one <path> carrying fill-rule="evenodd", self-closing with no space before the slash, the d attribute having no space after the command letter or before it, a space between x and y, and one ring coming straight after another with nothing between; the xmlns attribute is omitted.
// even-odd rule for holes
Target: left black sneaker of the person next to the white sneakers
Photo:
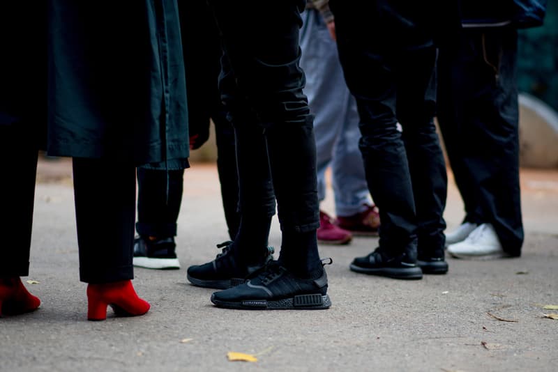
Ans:
<svg viewBox="0 0 558 372"><path fill-rule="evenodd" d="M422 279L423 277L421 268L416 265L416 254L412 255L407 251L398 256L390 256L377 248L368 256L356 257L350 268L355 272L394 279Z"/></svg>

